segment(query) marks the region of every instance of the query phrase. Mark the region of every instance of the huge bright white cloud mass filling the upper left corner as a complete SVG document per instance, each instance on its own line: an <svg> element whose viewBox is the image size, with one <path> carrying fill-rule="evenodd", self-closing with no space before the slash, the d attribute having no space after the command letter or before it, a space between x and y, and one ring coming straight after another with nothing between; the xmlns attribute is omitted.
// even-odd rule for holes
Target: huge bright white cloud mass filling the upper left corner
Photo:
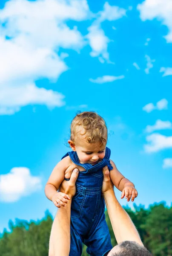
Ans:
<svg viewBox="0 0 172 256"><path fill-rule="evenodd" d="M29 104L51 108L65 104L61 93L38 88L35 81L57 81L68 69L66 53L58 56L59 47L78 51L85 42L77 27L70 29L65 22L86 20L89 15L86 0L6 2L0 10L0 114L14 114Z"/></svg>

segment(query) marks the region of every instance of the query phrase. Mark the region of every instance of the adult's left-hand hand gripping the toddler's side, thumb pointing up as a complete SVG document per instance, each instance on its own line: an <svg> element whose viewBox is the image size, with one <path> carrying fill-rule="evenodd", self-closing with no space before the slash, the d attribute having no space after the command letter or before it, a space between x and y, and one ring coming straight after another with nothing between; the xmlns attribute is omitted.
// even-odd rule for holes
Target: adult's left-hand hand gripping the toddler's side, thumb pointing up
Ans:
<svg viewBox="0 0 172 256"><path fill-rule="evenodd" d="M66 195L69 195L69 198L71 199L75 193L76 193L76 180L78 177L79 170L75 168L71 174L70 180L63 180L63 182L60 185L60 192L65 193Z"/></svg>

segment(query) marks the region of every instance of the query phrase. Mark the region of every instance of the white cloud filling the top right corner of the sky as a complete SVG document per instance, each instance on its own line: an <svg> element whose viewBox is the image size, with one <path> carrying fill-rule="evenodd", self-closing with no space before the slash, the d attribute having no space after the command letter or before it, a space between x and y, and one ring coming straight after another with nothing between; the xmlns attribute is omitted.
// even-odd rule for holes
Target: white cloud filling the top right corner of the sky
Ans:
<svg viewBox="0 0 172 256"><path fill-rule="evenodd" d="M138 4L141 20L153 20L157 18L169 29L165 36L168 43L172 42L172 1L171 0L145 0Z"/></svg>

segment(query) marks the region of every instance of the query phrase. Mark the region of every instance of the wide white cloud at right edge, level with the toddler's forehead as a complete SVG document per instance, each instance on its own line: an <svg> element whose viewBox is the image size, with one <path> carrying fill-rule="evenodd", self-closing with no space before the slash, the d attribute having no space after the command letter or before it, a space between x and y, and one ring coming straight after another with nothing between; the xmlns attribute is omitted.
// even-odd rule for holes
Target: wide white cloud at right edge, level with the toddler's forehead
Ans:
<svg viewBox="0 0 172 256"><path fill-rule="evenodd" d="M148 144L144 145L147 153L158 152L165 148L172 148L172 136L164 136L158 133L146 136Z"/></svg>

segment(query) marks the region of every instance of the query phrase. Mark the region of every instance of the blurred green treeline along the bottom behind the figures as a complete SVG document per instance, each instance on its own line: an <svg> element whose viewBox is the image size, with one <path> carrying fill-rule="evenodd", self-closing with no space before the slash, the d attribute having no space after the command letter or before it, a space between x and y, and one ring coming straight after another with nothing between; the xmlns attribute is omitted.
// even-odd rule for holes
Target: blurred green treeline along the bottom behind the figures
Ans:
<svg viewBox="0 0 172 256"><path fill-rule="evenodd" d="M172 207L165 203L154 204L145 209L134 205L134 210L125 207L137 227L144 245L154 256L172 256ZM115 214L115 213L114 213ZM108 214L106 221L116 244ZM41 221L9 221L11 232L4 230L0 238L0 256L48 256L52 215L47 211ZM58 230L57 230L58 232ZM88 255L83 246L82 256Z"/></svg>

